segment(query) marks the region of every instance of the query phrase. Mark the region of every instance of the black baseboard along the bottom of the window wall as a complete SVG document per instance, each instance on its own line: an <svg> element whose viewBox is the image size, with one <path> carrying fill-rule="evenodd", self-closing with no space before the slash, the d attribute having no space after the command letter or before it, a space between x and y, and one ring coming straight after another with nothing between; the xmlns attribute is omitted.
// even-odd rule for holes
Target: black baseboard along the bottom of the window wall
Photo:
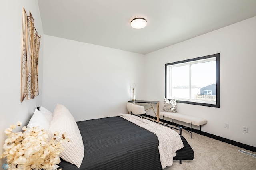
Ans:
<svg viewBox="0 0 256 170"><path fill-rule="evenodd" d="M147 117L153 119L154 117L151 116L151 115L146 115ZM155 118L156 119L156 118ZM162 119L159 119L160 121L163 121ZM170 122L170 121L166 121L164 120L164 123L168 123L170 125L172 125L173 123ZM175 123L176 124L176 123ZM183 125L179 125L179 124L176 124L178 126L181 126L183 128L186 128L187 130L191 129L191 127L186 127L186 126L183 126ZM213 139L216 139L216 140L219 140L221 142L225 142L225 143L228 143L228 144L232 144L234 146L238 146L240 148L244 148L244 149L247 149L247 150L250 150L252 152L256 152L256 147L253 147L253 146L250 146L250 145L247 145L247 144L243 144L243 143L240 143L240 142L236 142L234 140L230 140L230 139L227 139L227 138L222 138L220 136L216 136L214 134L210 134L210 133L206 133L206 132L200 132L200 130L198 129L194 129L193 128L193 133L197 133L197 134L200 134L203 135L203 136L206 136L206 137L209 137L209 138L213 138Z"/></svg>

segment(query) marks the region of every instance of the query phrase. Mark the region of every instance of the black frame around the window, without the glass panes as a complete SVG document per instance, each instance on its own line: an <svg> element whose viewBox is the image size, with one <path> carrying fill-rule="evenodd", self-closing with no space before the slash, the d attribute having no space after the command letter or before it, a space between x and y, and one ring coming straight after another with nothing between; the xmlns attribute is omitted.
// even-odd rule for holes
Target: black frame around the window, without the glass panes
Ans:
<svg viewBox="0 0 256 170"><path fill-rule="evenodd" d="M167 77L166 76L167 76L167 67L169 65L186 63L186 62L190 62L190 61L208 59L208 58L213 58L213 57L216 57L216 104L200 103L200 102L192 102L192 101L182 101L182 100L177 100L177 102L178 103L192 104L192 105L201 105L201 106L220 108L220 53L165 64L165 91L164 91L165 98L167 96Z"/></svg>

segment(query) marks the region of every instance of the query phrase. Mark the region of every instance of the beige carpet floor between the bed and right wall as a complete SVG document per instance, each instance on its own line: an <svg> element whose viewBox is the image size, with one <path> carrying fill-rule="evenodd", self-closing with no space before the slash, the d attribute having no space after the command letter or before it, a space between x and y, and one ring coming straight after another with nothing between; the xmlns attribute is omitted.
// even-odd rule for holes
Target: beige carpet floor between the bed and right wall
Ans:
<svg viewBox="0 0 256 170"><path fill-rule="evenodd" d="M256 170L256 158L238 150L252 154L256 154L255 152L196 133L193 133L191 139L190 135L186 130L182 130L182 136L194 150L194 160L182 160L182 164L175 160L173 165L165 170Z"/></svg>

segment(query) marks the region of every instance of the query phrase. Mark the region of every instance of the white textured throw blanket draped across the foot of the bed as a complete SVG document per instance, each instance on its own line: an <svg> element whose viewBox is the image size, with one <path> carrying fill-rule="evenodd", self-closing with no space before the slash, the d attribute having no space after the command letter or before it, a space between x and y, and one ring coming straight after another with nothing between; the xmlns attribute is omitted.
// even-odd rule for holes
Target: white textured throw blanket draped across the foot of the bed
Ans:
<svg viewBox="0 0 256 170"><path fill-rule="evenodd" d="M159 140L158 150L162 168L164 169L166 166L172 165L173 157L176 156L175 152L183 148L183 142L177 132L168 127L164 127L134 115L118 114L118 116L156 134Z"/></svg>

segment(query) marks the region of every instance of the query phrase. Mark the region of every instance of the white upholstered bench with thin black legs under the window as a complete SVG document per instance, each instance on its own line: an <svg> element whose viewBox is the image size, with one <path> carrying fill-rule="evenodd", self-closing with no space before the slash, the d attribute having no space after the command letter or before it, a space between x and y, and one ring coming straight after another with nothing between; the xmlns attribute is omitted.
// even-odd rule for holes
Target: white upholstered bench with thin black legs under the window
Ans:
<svg viewBox="0 0 256 170"><path fill-rule="evenodd" d="M168 117L168 118L172 119L172 123L174 123L173 119L175 119L177 121L182 121L182 122L191 124L191 129L190 129L191 130L191 132L190 132L191 138L192 138L192 125L200 126L200 134L201 134L201 125L204 125L207 123L206 119L203 119L200 117L195 117L192 115L186 115L183 113L160 112L159 115L160 115L160 118L163 119L163 122L164 122L164 117Z"/></svg>

